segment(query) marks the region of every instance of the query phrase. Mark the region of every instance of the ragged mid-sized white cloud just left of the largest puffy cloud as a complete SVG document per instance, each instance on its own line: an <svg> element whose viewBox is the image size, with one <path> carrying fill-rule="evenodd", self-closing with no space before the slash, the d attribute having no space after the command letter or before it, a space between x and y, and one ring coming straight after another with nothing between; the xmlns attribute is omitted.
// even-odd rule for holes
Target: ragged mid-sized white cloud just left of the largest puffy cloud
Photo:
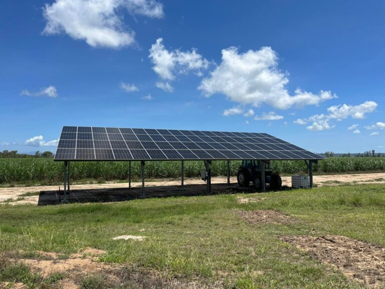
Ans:
<svg viewBox="0 0 385 289"><path fill-rule="evenodd" d="M209 67L209 61L203 58L196 49L193 48L191 51L180 51L179 49L169 51L164 47L162 38L156 40L149 52L148 57L154 64L152 69L163 80L171 81L175 79L175 75L188 74L189 72L195 72L198 76L201 76L201 70ZM166 86L166 84L156 86Z"/></svg>

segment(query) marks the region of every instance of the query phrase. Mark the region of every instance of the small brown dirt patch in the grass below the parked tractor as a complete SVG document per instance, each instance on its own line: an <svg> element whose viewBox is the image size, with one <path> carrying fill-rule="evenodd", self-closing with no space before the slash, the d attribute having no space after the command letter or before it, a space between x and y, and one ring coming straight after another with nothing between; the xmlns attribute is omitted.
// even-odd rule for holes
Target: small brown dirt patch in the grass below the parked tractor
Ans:
<svg viewBox="0 0 385 289"><path fill-rule="evenodd" d="M246 222L250 224L289 224L294 220L274 210L255 210L255 211L238 211Z"/></svg>

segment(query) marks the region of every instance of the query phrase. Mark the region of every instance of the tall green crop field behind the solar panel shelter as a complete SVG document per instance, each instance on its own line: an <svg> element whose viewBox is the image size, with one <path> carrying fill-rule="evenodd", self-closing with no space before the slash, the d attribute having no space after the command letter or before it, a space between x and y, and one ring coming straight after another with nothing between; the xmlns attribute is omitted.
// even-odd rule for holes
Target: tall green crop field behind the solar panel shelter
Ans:
<svg viewBox="0 0 385 289"><path fill-rule="evenodd" d="M231 174L238 172L239 161L231 162ZM272 168L283 174L307 172L303 161L273 161ZM199 177L204 170L204 163L186 161L185 177ZM375 172L385 170L385 158L328 158L313 166L315 174ZM140 164L132 162L132 177L140 177ZM146 178L178 178L180 162L147 162ZM212 175L227 174L225 161L216 161L212 165ZM126 180L128 178L128 162L72 162L72 181L93 180ZM63 180L63 162L52 159L0 159L0 184L57 184Z"/></svg>

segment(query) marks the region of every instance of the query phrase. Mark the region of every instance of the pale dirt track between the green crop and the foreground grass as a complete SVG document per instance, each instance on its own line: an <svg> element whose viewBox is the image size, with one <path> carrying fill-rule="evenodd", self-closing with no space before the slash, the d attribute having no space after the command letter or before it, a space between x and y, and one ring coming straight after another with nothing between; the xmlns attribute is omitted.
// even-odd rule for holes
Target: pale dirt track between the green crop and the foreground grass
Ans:
<svg viewBox="0 0 385 289"><path fill-rule="evenodd" d="M374 174L349 174L349 175L323 175L314 176L314 184L320 186L333 186L340 184L385 184L385 173L374 173ZM226 184L226 177L215 177L212 178L212 184ZM230 182L236 186L237 179L232 177ZM291 177L282 177L283 185L291 187ZM204 182L200 179L184 179L185 185L203 185ZM133 188L141 187L141 183L132 183ZM166 187L177 187L180 186L180 180L166 181L159 180L154 182L145 182L145 187L155 191L159 187L162 191ZM86 185L71 185L71 190L86 190L86 189L112 189L112 188L127 188L127 183L106 183L106 184L86 184ZM191 187L189 186L190 190ZM60 186L63 190L63 186ZM30 192L41 192L41 191L57 191L59 186L35 186L35 187L12 187L12 188L0 188L0 202L11 199L17 200L21 195ZM183 190L183 189L181 189ZM26 196L21 197L18 201L12 203L17 204L38 204L39 196Z"/></svg>

